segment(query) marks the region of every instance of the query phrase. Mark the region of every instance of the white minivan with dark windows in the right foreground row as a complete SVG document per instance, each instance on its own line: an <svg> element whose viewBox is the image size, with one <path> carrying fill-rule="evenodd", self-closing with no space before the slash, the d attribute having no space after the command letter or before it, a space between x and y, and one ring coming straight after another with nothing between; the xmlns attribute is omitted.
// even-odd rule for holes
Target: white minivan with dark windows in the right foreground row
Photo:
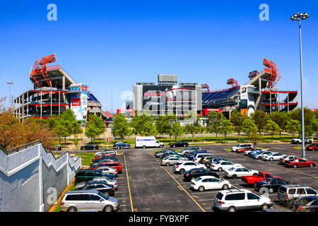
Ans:
<svg viewBox="0 0 318 226"><path fill-rule="evenodd" d="M237 210L271 208L271 199L252 193L247 189L229 189L219 191L214 199L216 210L236 212Z"/></svg>

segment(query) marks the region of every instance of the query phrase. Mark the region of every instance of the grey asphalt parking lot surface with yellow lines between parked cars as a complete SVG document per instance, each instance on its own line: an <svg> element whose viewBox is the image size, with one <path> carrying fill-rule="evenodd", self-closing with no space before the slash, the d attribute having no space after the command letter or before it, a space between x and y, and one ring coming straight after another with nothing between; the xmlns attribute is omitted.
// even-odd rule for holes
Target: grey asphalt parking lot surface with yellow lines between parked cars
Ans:
<svg viewBox="0 0 318 226"><path fill-rule="evenodd" d="M279 165L278 161L254 160L242 153L234 153L224 150L232 145L200 145L213 155L225 157L228 160L242 164L248 169L269 172L272 175L282 177L286 181L311 186L312 189L318 189L318 169L309 168L289 168ZM299 155L301 150L292 148L291 144L261 144L259 147L269 148L273 152L282 154ZM182 150L182 148L174 148ZM189 189L190 182L184 182L182 174L175 174L173 166L160 166L158 159L152 153L153 150L160 149L128 149L124 150L124 155L120 156L124 170L119 174L119 189L122 193L115 194L122 203L120 211L151 212L151 211L177 211L177 212L211 212L214 196L218 190L208 190L204 192L192 191ZM318 152L306 152L306 158L309 160L318 160ZM126 164L124 164L124 160ZM129 177L126 177L126 167ZM220 178L223 178L224 172L220 172ZM227 179L233 189L249 189L255 193L253 187L246 186L242 180ZM120 187L122 184L122 188ZM128 186L130 191L128 191ZM126 190L124 190L126 189ZM126 191L126 192L124 192ZM277 202L277 192L269 194L273 201L273 208L283 208Z"/></svg>

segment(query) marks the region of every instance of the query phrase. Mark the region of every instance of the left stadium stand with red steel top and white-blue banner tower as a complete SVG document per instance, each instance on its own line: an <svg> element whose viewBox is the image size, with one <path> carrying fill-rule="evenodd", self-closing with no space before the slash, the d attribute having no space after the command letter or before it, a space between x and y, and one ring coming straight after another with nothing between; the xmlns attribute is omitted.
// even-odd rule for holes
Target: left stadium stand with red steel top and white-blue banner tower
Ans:
<svg viewBox="0 0 318 226"><path fill-rule="evenodd" d="M86 121L87 114L111 121L112 115L102 111L100 101L88 90L88 84L76 83L61 65L47 66L55 60L53 54L35 61L29 74L33 88L13 101L15 117L20 121L28 117L47 119L70 108L81 123Z"/></svg>

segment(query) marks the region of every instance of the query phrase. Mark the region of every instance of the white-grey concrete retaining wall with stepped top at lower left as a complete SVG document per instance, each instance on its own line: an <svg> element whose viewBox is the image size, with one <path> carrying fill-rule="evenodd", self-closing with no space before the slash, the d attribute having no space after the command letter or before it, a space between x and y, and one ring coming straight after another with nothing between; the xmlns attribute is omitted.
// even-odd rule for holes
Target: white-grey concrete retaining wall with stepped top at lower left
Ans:
<svg viewBox="0 0 318 226"><path fill-rule="evenodd" d="M0 150L0 211L49 210L79 169L81 157L55 158L39 141Z"/></svg>

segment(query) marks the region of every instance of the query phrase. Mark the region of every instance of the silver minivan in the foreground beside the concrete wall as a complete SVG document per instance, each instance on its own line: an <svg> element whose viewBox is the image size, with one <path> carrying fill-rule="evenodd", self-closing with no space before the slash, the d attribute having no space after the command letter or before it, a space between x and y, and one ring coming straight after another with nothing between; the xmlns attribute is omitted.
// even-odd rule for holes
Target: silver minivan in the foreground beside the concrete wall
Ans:
<svg viewBox="0 0 318 226"><path fill-rule="evenodd" d="M61 199L59 210L112 212L118 210L119 206L120 203L116 198L105 196L99 191L66 191Z"/></svg>

